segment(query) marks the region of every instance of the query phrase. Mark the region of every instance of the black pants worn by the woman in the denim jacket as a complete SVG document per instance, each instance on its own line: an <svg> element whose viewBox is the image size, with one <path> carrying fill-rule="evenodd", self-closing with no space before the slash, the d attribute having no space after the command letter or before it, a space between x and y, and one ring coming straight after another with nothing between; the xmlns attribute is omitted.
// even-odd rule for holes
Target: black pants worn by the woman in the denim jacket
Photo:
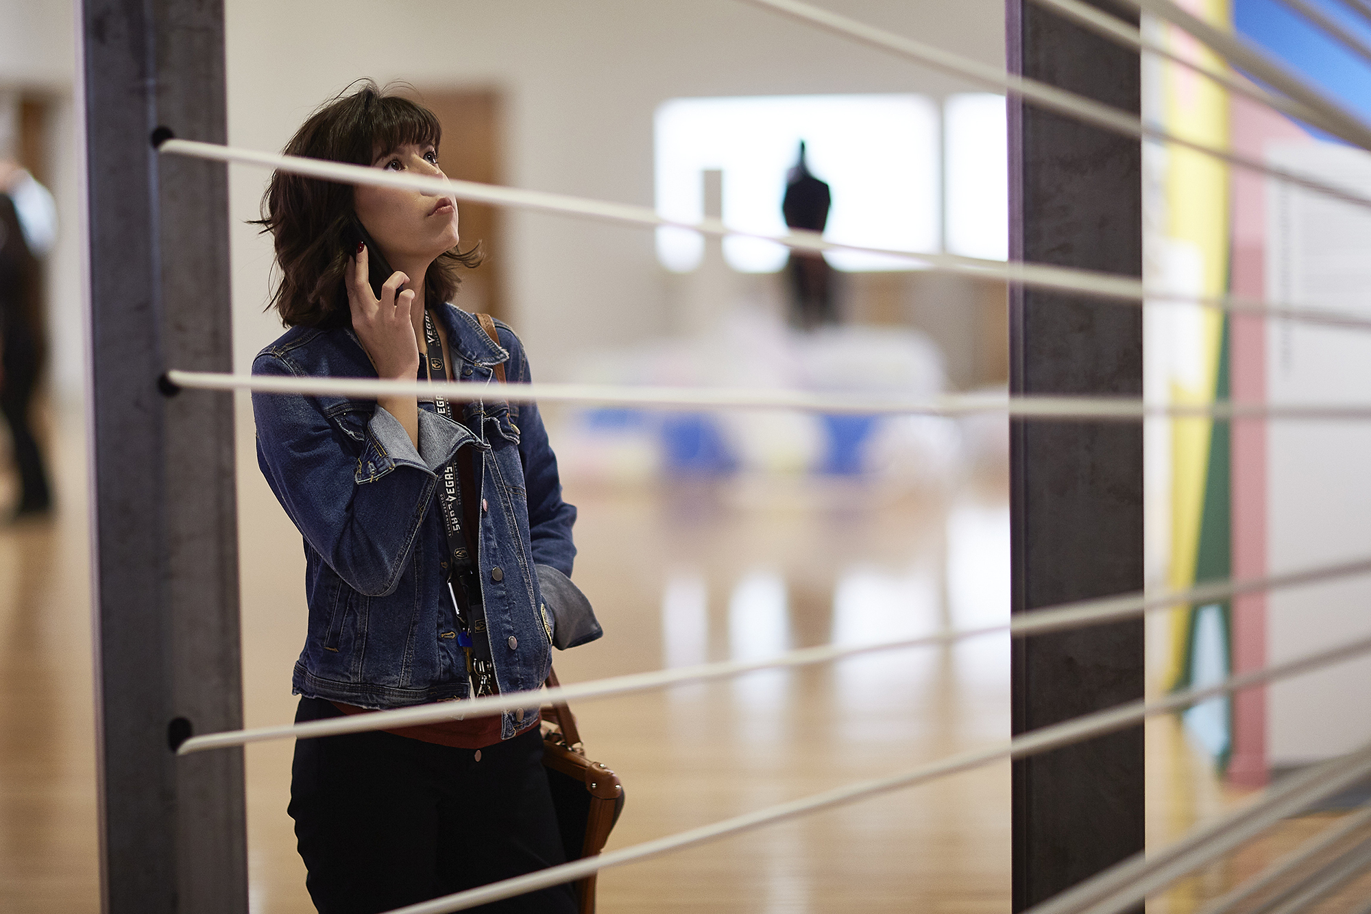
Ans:
<svg viewBox="0 0 1371 914"><path fill-rule="evenodd" d="M295 719L340 714L302 699ZM289 812L321 914L376 914L565 862L537 727L474 756L378 731L296 742ZM558 885L473 910L577 906Z"/></svg>

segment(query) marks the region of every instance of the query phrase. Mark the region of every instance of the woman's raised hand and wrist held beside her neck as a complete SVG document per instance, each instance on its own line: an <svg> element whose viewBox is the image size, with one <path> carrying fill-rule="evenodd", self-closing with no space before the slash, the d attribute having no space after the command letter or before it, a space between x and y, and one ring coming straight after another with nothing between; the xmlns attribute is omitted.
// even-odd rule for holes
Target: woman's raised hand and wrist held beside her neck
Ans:
<svg viewBox="0 0 1371 914"><path fill-rule="evenodd" d="M381 287L381 299L372 294L366 246L356 246L356 257L347 277L347 303L352 312L352 331L362 342L376 373L383 380L414 380L420 372L420 344L414 336L410 309L414 290L395 294L410 277L399 270L391 273ZM415 397L377 397L376 405L395 416L410 441L420 443L420 405Z"/></svg>

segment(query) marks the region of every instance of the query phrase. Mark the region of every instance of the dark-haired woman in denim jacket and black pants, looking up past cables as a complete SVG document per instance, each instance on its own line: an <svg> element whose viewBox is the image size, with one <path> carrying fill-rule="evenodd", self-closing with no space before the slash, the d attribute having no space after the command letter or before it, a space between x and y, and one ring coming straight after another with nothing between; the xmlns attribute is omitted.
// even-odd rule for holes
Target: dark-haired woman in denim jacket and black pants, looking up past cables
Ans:
<svg viewBox="0 0 1371 914"><path fill-rule="evenodd" d="M441 177L440 134L365 81L285 152ZM529 380L509 327L488 333L448 303L478 262L458 250L452 198L278 172L260 224L289 329L254 373ZM377 291L378 257L395 269ZM537 689L554 638L599 635L569 581L576 509L535 405L256 394L252 408L262 472L304 537L296 720ZM503 716L298 742L289 812L318 910L385 911L561 863L537 720L531 696ZM574 903L562 885L481 910Z"/></svg>

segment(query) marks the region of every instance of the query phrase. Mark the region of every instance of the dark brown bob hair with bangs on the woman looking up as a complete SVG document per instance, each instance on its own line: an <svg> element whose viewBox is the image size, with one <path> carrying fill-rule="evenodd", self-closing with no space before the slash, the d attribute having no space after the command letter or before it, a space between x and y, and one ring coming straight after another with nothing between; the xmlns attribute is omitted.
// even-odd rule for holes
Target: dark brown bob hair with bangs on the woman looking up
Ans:
<svg viewBox="0 0 1371 914"><path fill-rule="evenodd" d="M361 88L355 88L361 85ZM372 165L396 147L413 143L437 148L443 126L428 108L359 80L310 115L282 152L310 159ZM352 215L352 185L276 172L262 196L262 225L276 240L281 280L267 307L287 327L350 327L343 274L351 251L343 233ZM481 247L439 255L424 279L429 303L448 302L461 283L459 269L481 262Z"/></svg>

